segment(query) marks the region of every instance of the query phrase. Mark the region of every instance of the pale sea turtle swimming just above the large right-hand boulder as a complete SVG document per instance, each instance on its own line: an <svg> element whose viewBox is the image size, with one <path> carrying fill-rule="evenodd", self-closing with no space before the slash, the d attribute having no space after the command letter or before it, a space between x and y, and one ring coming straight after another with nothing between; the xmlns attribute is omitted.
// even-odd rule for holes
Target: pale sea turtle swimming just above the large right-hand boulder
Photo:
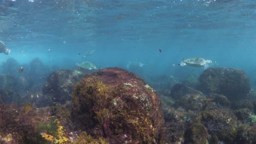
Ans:
<svg viewBox="0 0 256 144"><path fill-rule="evenodd" d="M211 60L205 60L201 57L193 57L188 59L184 58L179 65L181 66L190 65L192 67L204 67L204 69L207 69L210 63L212 63Z"/></svg>

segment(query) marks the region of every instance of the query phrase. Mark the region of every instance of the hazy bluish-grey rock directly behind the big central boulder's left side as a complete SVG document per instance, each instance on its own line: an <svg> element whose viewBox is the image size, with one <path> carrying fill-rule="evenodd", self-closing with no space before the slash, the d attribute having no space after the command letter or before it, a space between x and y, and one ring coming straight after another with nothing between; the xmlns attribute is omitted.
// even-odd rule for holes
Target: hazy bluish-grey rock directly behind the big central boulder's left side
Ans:
<svg viewBox="0 0 256 144"><path fill-rule="evenodd" d="M43 100L45 104L65 103L71 100L73 86L92 70L77 68L75 70L62 69L51 73L43 85Z"/></svg>

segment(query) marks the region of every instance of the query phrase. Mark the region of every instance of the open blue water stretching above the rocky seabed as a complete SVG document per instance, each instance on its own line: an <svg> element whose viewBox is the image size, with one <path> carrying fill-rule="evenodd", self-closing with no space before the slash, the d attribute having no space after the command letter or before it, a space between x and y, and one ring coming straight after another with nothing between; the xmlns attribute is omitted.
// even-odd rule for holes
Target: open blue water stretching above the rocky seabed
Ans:
<svg viewBox="0 0 256 144"><path fill-rule="evenodd" d="M39 57L60 68L83 61L99 68L141 62L143 76L182 76L203 68L177 63L203 57L218 67L245 70L253 82L255 8L248 0L1 0L0 40L11 53L0 53L0 62L15 58L26 64Z"/></svg>

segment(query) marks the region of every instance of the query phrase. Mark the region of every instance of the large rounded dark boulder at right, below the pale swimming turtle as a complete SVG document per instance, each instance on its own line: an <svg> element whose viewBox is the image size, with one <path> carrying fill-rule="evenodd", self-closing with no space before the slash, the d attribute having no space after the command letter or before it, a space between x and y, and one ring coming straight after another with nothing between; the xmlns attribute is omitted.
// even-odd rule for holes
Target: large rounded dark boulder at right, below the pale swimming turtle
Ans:
<svg viewBox="0 0 256 144"><path fill-rule="evenodd" d="M199 81L202 92L223 94L229 100L248 98L251 89L245 72L234 68L208 68Z"/></svg>

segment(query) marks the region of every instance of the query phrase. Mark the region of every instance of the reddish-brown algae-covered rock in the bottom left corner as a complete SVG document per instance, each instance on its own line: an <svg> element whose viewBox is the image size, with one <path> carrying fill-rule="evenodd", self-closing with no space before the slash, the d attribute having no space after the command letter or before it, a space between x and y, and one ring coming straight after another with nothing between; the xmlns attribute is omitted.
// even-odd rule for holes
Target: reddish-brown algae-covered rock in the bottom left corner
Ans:
<svg viewBox="0 0 256 144"><path fill-rule="evenodd" d="M0 104L0 143L24 143L36 130L36 123L26 112L21 107Z"/></svg>

